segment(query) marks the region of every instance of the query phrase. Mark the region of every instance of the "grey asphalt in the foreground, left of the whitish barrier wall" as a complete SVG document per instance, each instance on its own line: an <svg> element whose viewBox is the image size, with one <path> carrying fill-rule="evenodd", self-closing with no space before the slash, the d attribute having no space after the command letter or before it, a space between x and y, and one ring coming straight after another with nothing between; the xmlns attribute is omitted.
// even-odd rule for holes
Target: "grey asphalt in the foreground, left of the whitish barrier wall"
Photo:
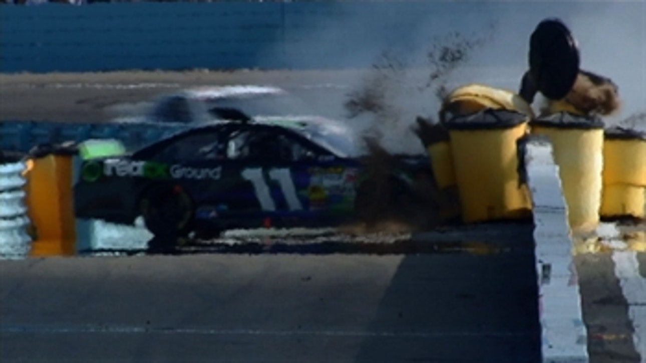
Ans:
<svg viewBox="0 0 646 363"><path fill-rule="evenodd" d="M530 254L0 266L3 362L535 362L539 349Z"/></svg>

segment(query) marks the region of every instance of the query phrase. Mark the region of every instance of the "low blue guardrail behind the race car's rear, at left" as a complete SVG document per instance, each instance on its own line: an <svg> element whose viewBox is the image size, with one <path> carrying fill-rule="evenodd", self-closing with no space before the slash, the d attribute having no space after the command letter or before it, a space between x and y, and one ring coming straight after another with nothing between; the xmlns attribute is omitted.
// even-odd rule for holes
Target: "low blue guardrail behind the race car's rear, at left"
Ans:
<svg viewBox="0 0 646 363"><path fill-rule="evenodd" d="M90 138L116 138L128 149L136 149L189 128L180 124L3 121L0 150L26 153L38 144L83 142Z"/></svg>

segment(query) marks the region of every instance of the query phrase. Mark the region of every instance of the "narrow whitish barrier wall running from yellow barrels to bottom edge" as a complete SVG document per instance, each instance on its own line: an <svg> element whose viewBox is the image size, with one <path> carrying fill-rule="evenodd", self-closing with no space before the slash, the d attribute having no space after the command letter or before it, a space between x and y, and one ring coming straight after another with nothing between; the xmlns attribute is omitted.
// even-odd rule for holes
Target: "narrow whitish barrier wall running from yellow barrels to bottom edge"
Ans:
<svg viewBox="0 0 646 363"><path fill-rule="evenodd" d="M583 324L558 167L550 144L532 141L527 151L528 182L534 203L543 361L587 362L587 329Z"/></svg>

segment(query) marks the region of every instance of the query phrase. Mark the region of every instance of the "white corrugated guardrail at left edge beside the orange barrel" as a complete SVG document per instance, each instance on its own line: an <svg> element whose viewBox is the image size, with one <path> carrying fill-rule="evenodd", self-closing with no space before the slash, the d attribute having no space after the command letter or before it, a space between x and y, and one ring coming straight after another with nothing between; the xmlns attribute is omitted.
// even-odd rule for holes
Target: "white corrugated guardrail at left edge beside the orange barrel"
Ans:
<svg viewBox="0 0 646 363"><path fill-rule="evenodd" d="M20 258L28 253L32 237L25 204L25 162L0 164L0 255Z"/></svg>

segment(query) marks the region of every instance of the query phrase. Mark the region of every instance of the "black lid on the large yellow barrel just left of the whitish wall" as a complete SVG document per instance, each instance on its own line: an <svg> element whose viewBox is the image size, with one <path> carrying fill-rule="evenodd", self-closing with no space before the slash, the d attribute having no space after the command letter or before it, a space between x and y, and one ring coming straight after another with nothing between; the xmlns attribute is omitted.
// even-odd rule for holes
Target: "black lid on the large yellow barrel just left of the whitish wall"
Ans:
<svg viewBox="0 0 646 363"><path fill-rule="evenodd" d="M509 129L528 120L527 115L508 109L483 109L468 115L456 115L446 120L450 130Z"/></svg>

